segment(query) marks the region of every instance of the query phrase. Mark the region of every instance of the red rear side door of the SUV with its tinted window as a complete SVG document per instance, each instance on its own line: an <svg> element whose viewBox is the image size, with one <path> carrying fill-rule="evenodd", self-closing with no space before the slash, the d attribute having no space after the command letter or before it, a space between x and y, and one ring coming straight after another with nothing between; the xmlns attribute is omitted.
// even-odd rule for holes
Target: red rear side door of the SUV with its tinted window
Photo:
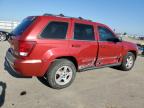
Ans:
<svg viewBox="0 0 144 108"><path fill-rule="evenodd" d="M70 41L71 55L74 55L79 69L94 66L98 44L93 23L74 20L72 23L72 41Z"/></svg>

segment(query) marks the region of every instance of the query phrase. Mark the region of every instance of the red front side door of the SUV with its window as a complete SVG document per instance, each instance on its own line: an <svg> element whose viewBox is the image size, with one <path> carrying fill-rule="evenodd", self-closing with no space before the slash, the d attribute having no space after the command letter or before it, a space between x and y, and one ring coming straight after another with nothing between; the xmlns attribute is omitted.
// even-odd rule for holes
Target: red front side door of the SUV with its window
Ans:
<svg viewBox="0 0 144 108"><path fill-rule="evenodd" d="M121 42L111 41L117 38L115 34L105 26L98 27L99 33L99 53L96 66L119 63L122 56Z"/></svg>

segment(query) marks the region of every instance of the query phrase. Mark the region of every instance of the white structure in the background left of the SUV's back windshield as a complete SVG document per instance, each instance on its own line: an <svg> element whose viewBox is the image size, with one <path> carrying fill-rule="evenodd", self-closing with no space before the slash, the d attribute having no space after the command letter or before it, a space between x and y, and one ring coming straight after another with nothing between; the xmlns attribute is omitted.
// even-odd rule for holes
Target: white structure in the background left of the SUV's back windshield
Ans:
<svg viewBox="0 0 144 108"><path fill-rule="evenodd" d="M18 24L19 24L19 21L2 21L2 20L0 20L0 29L13 30Z"/></svg>

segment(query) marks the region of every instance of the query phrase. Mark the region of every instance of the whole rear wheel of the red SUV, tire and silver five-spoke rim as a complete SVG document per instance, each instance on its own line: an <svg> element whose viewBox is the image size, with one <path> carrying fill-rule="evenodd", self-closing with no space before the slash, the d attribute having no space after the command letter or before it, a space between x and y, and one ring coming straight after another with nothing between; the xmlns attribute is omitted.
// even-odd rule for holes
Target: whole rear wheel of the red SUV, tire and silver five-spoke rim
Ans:
<svg viewBox="0 0 144 108"><path fill-rule="evenodd" d="M75 65L67 59L58 59L48 69L46 79L50 87L62 89L71 85L75 76Z"/></svg>

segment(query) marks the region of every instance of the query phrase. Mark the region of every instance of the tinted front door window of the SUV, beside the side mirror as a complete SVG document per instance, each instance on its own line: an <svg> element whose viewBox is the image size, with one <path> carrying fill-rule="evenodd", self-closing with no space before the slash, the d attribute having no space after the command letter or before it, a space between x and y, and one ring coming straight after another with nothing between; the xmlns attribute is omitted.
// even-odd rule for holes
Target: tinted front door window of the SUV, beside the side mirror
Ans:
<svg viewBox="0 0 144 108"><path fill-rule="evenodd" d="M104 27L98 27L100 41L108 41L111 38L115 38L114 34Z"/></svg>

